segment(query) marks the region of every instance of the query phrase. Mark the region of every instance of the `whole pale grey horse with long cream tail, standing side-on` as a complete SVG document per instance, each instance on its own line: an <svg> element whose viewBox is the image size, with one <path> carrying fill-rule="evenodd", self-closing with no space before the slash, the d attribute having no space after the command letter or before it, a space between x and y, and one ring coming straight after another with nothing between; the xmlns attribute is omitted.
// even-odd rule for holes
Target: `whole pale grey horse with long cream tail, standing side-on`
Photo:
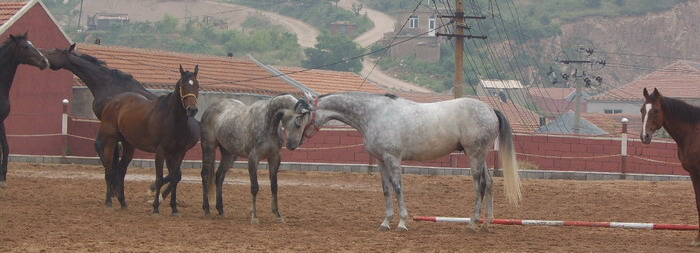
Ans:
<svg viewBox="0 0 700 253"><path fill-rule="evenodd" d="M496 138L505 174L506 199L518 204L521 184L508 119L486 103L460 98L436 103L416 103L392 94L363 92L331 93L320 97L306 94L312 104L312 120L304 130L310 138L329 120L341 121L357 129L364 147L377 159L386 201L386 217L380 230L389 230L394 217L392 191L400 209L399 230L408 230L408 210L403 199L401 162L436 159L453 151L463 151L471 163L476 188L476 207L468 225L476 231L482 201L487 218L479 231L489 231L493 220L493 179L486 167L486 155Z"/></svg>

